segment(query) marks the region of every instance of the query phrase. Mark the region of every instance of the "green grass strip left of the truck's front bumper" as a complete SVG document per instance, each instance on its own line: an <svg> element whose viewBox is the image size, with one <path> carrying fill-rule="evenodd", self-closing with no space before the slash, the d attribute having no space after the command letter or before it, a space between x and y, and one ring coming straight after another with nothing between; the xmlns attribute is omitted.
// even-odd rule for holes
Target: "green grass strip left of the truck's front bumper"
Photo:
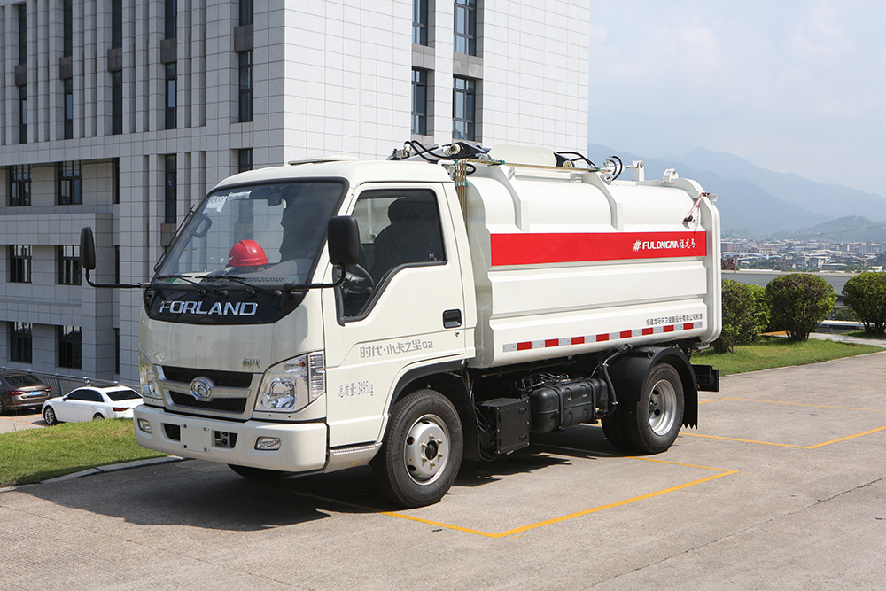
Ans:
<svg viewBox="0 0 886 591"><path fill-rule="evenodd" d="M64 423L0 434L0 486L24 485L165 454L136 445L129 419Z"/></svg>

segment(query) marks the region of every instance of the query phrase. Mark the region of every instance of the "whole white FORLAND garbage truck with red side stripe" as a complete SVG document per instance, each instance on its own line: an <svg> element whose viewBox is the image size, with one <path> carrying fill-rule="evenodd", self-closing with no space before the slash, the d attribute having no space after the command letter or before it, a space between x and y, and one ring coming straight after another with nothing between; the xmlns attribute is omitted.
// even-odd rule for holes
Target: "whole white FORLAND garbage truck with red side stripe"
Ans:
<svg viewBox="0 0 886 591"><path fill-rule="evenodd" d="M619 180L623 168L631 180ZM139 445L246 478L371 464L438 502L462 458L602 423L632 454L697 423L719 336L716 196L642 162L408 142L231 176L144 291Z"/></svg>

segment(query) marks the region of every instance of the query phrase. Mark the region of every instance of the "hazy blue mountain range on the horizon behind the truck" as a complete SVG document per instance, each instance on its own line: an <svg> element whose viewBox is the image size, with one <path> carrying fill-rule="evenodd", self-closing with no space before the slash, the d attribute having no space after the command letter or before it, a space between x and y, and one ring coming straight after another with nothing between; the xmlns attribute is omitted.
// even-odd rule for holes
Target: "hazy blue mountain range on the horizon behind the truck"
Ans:
<svg viewBox="0 0 886 591"><path fill-rule="evenodd" d="M618 152L601 144L588 144L587 150L588 158L598 164L612 154L626 164L643 160L647 179L676 168L680 176L698 181L705 191L717 193L727 237L886 242L886 198L876 193L816 183L704 148L660 158Z"/></svg>

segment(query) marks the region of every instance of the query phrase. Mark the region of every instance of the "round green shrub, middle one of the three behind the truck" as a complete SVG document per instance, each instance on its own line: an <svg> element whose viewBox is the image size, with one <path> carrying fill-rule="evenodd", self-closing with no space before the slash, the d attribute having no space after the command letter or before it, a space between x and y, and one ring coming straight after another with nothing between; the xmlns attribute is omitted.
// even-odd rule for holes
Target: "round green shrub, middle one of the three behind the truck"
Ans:
<svg viewBox="0 0 886 591"><path fill-rule="evenodd" d="M836 292L820 276L791 273L766 285L766 300L773 328L786 331L789 340L804 341L834 308Z"/></svg>

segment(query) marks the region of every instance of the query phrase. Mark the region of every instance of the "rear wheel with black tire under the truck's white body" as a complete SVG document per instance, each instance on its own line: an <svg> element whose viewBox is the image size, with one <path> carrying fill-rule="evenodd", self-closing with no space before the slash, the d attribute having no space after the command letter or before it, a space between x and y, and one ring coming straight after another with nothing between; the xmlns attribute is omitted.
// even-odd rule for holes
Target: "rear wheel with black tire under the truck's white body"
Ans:
<svg viewBox="0 0 886 591"><path fill-rule="evenodd" d="M683 423L683 383L667 363L653 367L643 382L640 399L618 409L627 439L635 452L660 454L673 445Z"/></svg>

